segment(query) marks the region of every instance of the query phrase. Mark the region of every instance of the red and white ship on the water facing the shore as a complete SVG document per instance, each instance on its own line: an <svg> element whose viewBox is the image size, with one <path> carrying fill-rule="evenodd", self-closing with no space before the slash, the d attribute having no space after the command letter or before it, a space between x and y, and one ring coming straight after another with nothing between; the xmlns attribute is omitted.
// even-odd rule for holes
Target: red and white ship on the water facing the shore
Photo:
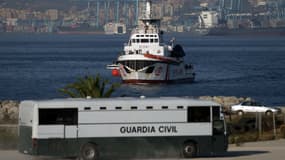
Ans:
<svg viewBox="0 0 285 160"><path fill-rule="evenodd" d="M160 19L152 17L150 0L146 1L144 12L123 52L107 68L124 83L192 82L193 65L184 62L184 50L174 39L169 44L163 42Z"/></svg>

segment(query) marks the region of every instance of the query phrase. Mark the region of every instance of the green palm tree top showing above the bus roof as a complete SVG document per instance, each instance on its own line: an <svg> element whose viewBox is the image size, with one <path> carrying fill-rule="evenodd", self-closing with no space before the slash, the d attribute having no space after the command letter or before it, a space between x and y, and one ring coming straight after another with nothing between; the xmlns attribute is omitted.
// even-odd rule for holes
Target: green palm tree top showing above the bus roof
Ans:
<svg viewBox="0 0 285 160"><path fill-rule="evenodd" d="M107 86L109 86L108 89L106 89ZM96 77L79 78L74 83L59 89L59 91L72 98L103 98L110 97L118 87L119 84L110 83L107 79L103 79L100 74L97 74Z"/></svg>

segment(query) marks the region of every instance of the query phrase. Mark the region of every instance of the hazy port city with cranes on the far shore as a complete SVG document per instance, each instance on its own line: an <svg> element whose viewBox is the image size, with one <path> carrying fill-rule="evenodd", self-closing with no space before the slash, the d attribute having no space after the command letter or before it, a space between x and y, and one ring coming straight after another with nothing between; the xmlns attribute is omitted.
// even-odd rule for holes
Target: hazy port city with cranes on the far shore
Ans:
<svg viewBox="0 0 285 160"><path fill-rule="evenodd" d="M45 0L0 2L0 32L57 32L60 28L64 33L99 33L106 24L123 24L129 30L138 25L145 2L60 0L46 5L41 1ZM197 27L200 12L207 11L201 4L217 12L219 23L229 28L285 26L285 0L155 0L153 16L161 19L164 31L185 32Z"/></svg>

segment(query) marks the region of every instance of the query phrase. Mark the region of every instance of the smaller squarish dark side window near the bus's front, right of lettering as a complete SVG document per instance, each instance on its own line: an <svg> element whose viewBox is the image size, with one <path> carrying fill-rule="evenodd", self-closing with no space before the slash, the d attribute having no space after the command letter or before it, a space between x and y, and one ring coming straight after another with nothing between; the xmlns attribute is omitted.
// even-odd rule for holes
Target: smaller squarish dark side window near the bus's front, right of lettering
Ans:
<svg viewBox="0 0 285 160"><path fill-rule="evenodd" d="M210 122L210 107L188 107L188 122Z"/></svg>

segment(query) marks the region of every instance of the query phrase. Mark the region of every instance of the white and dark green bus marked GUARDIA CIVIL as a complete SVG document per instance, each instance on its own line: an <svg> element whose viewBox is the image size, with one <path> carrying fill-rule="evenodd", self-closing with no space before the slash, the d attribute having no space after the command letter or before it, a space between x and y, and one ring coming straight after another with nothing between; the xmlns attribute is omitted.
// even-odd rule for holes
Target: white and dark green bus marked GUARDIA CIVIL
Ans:
<svg viewBox="0 0 285 160"><path fill-rule="evenodd" d="M98 160L227 151L221 106L187 97L26 100L20 103L19 151Z"/></svg>

